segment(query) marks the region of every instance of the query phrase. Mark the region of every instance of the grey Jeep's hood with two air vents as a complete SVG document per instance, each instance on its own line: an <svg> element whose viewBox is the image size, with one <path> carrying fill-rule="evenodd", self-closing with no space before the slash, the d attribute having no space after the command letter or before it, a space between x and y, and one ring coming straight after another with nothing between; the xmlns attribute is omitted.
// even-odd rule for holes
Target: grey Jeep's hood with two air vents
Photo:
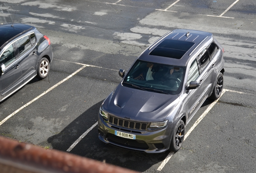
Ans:
<svg viewBox="0 0 256 173"><path fill-rule="evenodd" d="M118 85L103 103L103 109L116 117L133 121L160 122L179 103L178 95L142 91Z"/></svg>

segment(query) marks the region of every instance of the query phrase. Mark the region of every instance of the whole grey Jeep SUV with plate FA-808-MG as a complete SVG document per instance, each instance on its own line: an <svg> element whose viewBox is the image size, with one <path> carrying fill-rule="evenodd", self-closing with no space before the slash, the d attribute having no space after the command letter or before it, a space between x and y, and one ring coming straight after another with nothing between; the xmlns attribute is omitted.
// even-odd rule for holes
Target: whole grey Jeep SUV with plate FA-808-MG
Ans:
<svg viewBox="0 0 256 173"><path fill-rule="evenodd" d="M178 151L202 103L223 89L224 49L213 34L173 30L135 60L99 110L99 139L147 153Z"/></svg>

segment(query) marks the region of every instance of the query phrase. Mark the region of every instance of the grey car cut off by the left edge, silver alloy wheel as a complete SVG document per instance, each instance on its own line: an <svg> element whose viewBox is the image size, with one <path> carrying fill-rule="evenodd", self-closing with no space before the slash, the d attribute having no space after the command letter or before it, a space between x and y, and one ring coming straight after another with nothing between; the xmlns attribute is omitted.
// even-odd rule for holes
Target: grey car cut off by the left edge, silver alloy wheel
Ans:
<svg viewBox="0 0 256 173"><path fill-rule="evenodd" d="M0 25L0 101L35 76L45 78L53 53L50 39L34 26Z"/></svg>

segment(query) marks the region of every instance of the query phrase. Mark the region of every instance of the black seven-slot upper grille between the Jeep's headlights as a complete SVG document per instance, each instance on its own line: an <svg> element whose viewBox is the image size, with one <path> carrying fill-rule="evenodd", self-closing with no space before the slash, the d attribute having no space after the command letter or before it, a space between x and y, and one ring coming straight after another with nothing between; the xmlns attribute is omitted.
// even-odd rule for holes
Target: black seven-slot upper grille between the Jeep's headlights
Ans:
<svg viewBox="0 0 256 173"><path fill-rule="evenodd" d="M126 127L128 129L136 129L136 130L146 130L148 125L148 123L128 121L128 120L119 119L112 116L109 116L109 123L120 126L120 127Z"/></svg>

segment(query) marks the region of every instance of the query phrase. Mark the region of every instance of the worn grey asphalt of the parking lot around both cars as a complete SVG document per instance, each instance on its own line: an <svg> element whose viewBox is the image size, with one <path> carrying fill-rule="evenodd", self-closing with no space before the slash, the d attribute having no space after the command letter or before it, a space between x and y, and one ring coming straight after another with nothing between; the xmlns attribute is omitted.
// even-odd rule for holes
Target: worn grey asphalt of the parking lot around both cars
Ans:
<svg viewBox="0 0 256 173"><path fill-rule="evenodd" d="M255 172L255 0L0 0L0 21L36 26L54 52L47 78L0 103L0 121L12 115L1 136L146 173ZM178 28L212 32L223 45L225 93L210 110L205 101L186 131L204 118L173 155L101 142L93 125L118 70Z"/></svg>

